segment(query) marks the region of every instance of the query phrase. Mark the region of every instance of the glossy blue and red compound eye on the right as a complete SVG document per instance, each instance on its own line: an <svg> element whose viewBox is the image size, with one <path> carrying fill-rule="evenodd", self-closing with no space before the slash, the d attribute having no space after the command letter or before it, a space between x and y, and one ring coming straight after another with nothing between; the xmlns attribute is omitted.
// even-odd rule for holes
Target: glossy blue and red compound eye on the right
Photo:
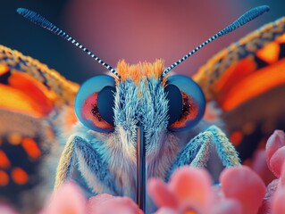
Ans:
<svg viewBox="0 0 285 214"><path fill-rule="evenodd" d="M169 100L168 128L170 130L188 130L203 118L205 95L191 78L173 75L167 78L164 91Z"/></svg>

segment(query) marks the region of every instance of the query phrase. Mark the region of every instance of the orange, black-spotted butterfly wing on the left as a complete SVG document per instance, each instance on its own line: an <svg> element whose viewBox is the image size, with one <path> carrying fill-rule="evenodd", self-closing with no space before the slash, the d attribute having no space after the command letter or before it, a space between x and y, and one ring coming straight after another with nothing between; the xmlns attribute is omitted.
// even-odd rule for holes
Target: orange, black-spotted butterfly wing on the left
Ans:
<svg viewBox="0 0 285 214"><path fill-rule="evenodd" d="M53 185L46 177L54 180L49 164L60 150L57 136L76 121L78 89L45 64L0 45L0 202L28 213L40 208L43 189Z"/></svg>

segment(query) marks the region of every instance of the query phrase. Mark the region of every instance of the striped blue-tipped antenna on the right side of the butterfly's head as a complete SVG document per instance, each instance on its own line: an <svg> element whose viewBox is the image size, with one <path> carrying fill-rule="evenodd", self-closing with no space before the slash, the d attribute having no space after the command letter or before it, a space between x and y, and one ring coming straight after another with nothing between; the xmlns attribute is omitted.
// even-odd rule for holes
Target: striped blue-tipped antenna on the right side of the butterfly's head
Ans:
<svg viewBox="0 0 285 214"><path fill-rule="evenodd" d="M171 66L163 70L163 73L160 77L160 79L163 79L163 77L173 68L175 68L177 65L179 65L181 62L185 61L187 58L189 58L190 55L193 55L196 53L199 49L204 47L205 45L209 44L210 42L214 41L214 39L218 37L222 37L223 35L226 35L230 33L231 31L238 29L239 27L246 24L248 21L252 21L256 19L256 17L262 15L264 12L269 11L269 6L263 5L258 6L256 8L251 9L250 11L245 12L242 16L239 17L236 21L233 21L231 25L227 26L226 28L222 29L220 32L215 34L213 37L210 37L209 39L205 40L204 43L201 45L198 45L195 49L193 49L191 52L187 53L185 56L183 56L179 61L174 62Z"/></svg>

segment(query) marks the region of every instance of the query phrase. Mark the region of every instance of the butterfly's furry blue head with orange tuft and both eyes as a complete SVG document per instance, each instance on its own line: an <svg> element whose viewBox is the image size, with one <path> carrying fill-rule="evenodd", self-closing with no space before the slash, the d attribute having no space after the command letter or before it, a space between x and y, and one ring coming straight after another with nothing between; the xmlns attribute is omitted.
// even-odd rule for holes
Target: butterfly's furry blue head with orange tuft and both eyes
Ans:
<svg viewBox="0 0 285 214"><path fill-rule="evenodd" d="M121 78L100 75L81 86L75 111L88 128L112 132L116 126L156 129L164 124L164 130L180 131L202 119L205 97L200 87L181 75L161 79L162 60L135 65L121 61L117 70Z"/></svg>

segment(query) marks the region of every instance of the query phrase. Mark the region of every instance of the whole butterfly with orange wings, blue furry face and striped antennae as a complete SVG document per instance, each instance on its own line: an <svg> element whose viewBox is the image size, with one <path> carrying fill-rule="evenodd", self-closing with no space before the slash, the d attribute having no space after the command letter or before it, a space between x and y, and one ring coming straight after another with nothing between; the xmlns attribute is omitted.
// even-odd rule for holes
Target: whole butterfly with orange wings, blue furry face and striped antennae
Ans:
<svg viewBox="0 0 285 214"><path fill-rule="evenodd" d="M259 13L267 10L263 7ZM279 119L281 125L274 128L283 126L280 112L272 109L273 100L256 115L246 117L243 111L255 109L266 95L272 99L272 95L275 99L283 95L284 19L217 53L193 81L168 72L216 37L239 27L240 19L166 69L157 60L136 65L121 61L115 70L37 13L18 12L79 46L113 76L96 76L79 86L46 65L0 46L0 193L4 201L10 199L28 209L36 204L34 209L39 209L38 192L52 188L53 182L46 180L56 174L56 186L72 177L87 196L127 195L143 208L147 177L167 180L182 165L205 166L211 143L220 149L224 165L239 165L222 130L201 120L205 102L220 106L224 127L239 143L241 154L239 146L247 145L247 138L261 130L251 124L262 126L269 119ZM256 15L256 9L249 13ZM268 84L264 80L256 89L253 82L259 83L258 78ZM247 95L241 88L247 88ZM56 165L55 172L51 166ZM30 197L33 194L37 197Z"/></svg>

